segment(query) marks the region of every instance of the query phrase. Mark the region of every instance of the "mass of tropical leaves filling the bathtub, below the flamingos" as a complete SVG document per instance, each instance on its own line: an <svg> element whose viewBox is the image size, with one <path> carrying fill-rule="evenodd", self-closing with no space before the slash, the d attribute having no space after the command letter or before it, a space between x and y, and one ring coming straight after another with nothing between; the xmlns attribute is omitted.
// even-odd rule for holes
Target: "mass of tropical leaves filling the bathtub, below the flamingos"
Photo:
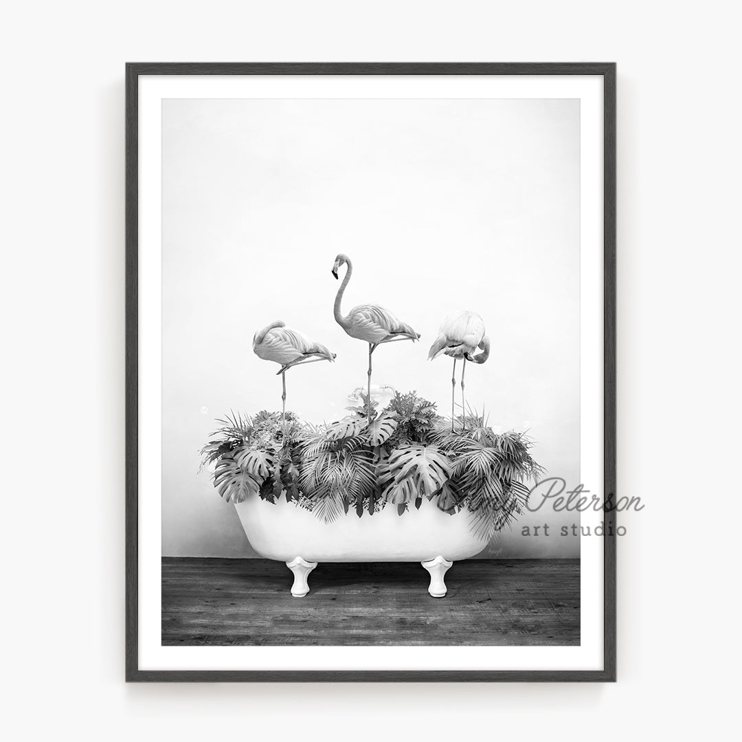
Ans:
<svg viewBox="0 0 742 742"><path fill-rule="evenodd" d="M228 502L286 501L332 522L387 505L399 515L423 498L446 513L467 511L482 540L522 512L542 472L523 433L496 433L473 410L454 421L417 395L395 393L384 407L361 395L338 422L315 426L295 413L231 414L201 450ZM452 427L459 432L452 432Z"/></svg>

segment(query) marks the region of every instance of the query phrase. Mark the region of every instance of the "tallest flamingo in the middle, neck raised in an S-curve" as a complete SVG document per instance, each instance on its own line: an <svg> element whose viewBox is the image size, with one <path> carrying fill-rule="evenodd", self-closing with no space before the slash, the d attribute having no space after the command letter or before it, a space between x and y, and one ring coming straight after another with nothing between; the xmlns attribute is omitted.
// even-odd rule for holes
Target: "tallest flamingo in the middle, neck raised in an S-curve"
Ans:
<svg viewBox="0 0 742 742"><path fill-rule="evenodd" d="M340 311L340 303L343 301L343 293L348 285L350 276L353 272L353 264L347 255L341 253L335 257L335 263L332 264L332 275L338 278L338 269L342 265L347 265L345 278L338 289L338 295L335 296L335 321L350 335L351 338L358 338L369 344L369 370L367 381L368 410L367 421L371 422L371 355L375 349L382 343L393 343L398 340L416 341L420 339L415 330L410 325L400 322L389 309L384 309L378 304L359 304L354 306L348 315L344 317Z"/></svg>

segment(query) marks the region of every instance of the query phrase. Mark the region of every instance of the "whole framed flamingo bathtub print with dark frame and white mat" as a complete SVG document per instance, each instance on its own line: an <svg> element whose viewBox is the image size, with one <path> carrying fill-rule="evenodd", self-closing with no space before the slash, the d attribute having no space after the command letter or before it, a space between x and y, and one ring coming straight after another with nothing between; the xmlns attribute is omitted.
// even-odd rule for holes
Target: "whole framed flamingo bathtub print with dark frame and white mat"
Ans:
<svg viewBox="0 0 742 742"><path fill-rule="evenodd" d="M616 679L615 95L127 65L127 680Z"/></svg>

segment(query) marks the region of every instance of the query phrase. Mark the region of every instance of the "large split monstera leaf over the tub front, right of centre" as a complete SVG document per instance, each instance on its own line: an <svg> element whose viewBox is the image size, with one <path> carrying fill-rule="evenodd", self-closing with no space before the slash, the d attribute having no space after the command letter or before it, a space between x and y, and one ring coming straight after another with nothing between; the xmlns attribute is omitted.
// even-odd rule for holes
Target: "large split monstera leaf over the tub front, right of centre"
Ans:
<svg viewBox="0 0 742 742"><path fill-rule="evenodd" d="M452 473L451 462L437 446L401 446L378 467L381 496L394 505L421 496L447 505L453 496L448 484Z"/></svg>

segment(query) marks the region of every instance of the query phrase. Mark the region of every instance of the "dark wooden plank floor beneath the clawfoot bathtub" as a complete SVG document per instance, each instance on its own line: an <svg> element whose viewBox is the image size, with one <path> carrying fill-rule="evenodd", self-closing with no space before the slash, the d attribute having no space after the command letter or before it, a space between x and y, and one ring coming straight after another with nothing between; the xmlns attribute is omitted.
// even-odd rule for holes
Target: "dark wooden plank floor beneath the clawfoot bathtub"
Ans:
<svg viewBox="0 0 742 742"><path fill-rule="evenodd" d="M456 562L448 594L418 563L320 564L309 595L268 559L162 559L162 644L580 644L580 560Z"/></svg>

